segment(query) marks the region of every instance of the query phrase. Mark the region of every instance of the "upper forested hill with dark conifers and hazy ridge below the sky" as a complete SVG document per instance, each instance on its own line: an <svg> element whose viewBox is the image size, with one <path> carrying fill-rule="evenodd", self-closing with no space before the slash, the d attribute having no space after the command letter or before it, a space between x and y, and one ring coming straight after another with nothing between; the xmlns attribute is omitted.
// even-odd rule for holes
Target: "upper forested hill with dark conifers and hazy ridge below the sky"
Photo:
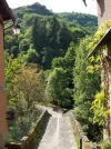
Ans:
<svg viewBox="0 0 111 149"><path fill-rule="evenodd" d="M6 50L14 58L22 52L27 63L40 63L43 69L50 69L52 60L63 57L71 42L78 46L98 27L94 16L53 13L38 2L12 11L21 26L21 33L17 40L11 29L6 30Z"/></svg>

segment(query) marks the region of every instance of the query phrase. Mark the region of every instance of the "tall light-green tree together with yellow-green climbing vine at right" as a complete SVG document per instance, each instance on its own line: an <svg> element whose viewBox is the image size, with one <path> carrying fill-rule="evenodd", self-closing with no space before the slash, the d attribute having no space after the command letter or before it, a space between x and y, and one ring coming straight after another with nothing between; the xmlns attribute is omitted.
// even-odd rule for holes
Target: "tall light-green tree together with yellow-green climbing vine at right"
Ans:
<svg viewBox="0 0 111 149"><path fill-rule="evenodd" d="M111 21L104 22L95 32L93 39L82 40L75 50L77 56L73 72L74 115L83 126L88 137L94 141L99 141L102 138L101 130L109 121L109 82L107 81L108 76L105 71L105 76L102 78L104 79L104 86L101 90L100 56L98 52L97 54L94 53L94 57L90 57L89 61L85 56L95 47L109 28L111 28ZM107 51L107 48L102 47L102 50ZM105 56L102 57L102 62L104 62ZM107 68L104 69L107 70Z"/></svg>

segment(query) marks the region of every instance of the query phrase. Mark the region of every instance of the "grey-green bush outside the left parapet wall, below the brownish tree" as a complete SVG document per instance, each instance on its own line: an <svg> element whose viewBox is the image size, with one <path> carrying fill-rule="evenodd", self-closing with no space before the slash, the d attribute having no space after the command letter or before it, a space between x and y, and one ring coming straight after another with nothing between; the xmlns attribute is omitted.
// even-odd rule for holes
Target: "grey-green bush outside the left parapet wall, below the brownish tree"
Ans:
<svg viewBox="0 0 111 149"><path fill-rule="evenodd" d="M22 116L19 116L18 120L9 126L9 141L19 142L23 136L26 136L38 120L40 112L23 111Z"/></svg>

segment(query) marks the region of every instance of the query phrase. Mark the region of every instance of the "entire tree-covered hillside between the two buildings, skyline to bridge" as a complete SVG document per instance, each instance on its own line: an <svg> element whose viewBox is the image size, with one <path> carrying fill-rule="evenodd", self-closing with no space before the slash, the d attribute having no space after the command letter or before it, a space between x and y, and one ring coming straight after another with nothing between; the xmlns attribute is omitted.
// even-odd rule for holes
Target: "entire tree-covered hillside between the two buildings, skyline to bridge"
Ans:
<svg viewBox="0 0 111 149"><path fill-rule="evenodd" d="M26 113L31 111L34 117L36 103L57 105L74 109L88 137L100 140L101 131L99 125L93 123L94 113L90 110L100 90L100 71L88 73L91 63L87 59L97 17L53 13L40 3L12 11L21 33L16 37L11 29L6 31L6 85L8 106L18 109L22 117L16 127L21 127L23 121L30 123L31 116L27 118ZM16 138L13 131L11 126L11 140Z"/></svg>

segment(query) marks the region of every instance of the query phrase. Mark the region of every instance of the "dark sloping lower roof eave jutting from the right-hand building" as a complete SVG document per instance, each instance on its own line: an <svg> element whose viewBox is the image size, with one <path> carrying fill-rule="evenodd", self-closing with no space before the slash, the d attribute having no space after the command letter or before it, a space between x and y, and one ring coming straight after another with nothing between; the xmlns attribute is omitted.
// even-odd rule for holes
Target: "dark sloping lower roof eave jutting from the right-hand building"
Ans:
<svg viewBox="0 0 111 149"><path fill-rule="evenodd" d="M97 46L93 48L93 50L88 54L88 58L92 54L95 54L95 52L104 47L105 44L109 44L111 42L111 29L108 30L108 32L100 39L100 41L97 43Z"/></svg>

